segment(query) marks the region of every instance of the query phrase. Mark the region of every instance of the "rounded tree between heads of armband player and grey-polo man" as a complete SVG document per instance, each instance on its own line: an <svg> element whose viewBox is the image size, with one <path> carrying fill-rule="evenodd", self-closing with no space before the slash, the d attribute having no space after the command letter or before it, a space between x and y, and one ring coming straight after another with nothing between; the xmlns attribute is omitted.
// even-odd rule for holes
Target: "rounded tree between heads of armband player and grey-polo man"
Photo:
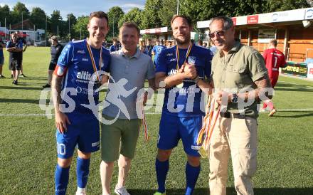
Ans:
<svg viewBox="0 0 313 195"><path fill-rule="evenodd" d="M107 37L117 36L119 34L118 22L120 19L122 19L122 16L124 16L124 11L119 6L113 6L107 12L107 16L109 17L110 27L110 31L107 33Z"/></svg>

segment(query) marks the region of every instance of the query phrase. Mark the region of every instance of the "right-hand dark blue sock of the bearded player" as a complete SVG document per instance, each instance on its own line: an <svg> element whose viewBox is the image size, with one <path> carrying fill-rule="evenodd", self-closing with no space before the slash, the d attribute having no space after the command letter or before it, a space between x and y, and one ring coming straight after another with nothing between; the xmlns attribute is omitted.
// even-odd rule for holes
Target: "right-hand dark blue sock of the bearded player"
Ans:
<svg viewBox="0 0 313 195"><path fill-rule="evenodd" d="M193 193L200 170L200 165L198 167L192 167L188 162L186 163L186 195L191 195Z"/></svg>

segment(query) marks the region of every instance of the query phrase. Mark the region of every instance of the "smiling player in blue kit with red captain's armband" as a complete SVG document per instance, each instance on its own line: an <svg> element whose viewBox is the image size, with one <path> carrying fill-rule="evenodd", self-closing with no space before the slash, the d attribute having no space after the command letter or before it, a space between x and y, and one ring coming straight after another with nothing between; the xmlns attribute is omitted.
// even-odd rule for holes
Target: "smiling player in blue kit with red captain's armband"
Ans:
<svg viewBox="0 0 313 195"><path fill-rule="evenodd" d="M107 77L101 77L99 71L110 70L110 51L102 46L109 31L108 23L105 12L92 12L87 25L89 38L68 43L63 48L53 73L51 94L55 107L58 152L55 194L58 195L66 193L76 145L76 195L85 194L91 152L100 149L100 125L97 116L93 114L97 111L99 100L98 85L91 89L89 85L93 82L107 82ZM95 107L87 108L85 105L92 105L90 98L94 99Z"/></svg>

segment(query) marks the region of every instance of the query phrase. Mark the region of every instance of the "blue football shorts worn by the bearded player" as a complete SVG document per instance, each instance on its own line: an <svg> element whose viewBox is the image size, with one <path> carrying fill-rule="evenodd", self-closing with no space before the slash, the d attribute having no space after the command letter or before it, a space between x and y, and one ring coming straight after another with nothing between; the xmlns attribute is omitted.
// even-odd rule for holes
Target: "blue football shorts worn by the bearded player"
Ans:
<svg viewBox="0 0 313 195"><path fill-rule="evenodd" d="M202 127L202 116L177 117L173 115L161 115L159 125L159 149L172 149L177 146L179 139L183 142L184 151L193 157L199 157L197 137Z"/></svg>

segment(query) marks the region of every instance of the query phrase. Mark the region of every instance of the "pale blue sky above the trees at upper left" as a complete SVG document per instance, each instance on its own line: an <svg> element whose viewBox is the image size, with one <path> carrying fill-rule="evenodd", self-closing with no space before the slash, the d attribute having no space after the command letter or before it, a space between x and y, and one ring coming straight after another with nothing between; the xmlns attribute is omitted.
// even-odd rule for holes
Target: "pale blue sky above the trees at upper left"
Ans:
<svg viewBox="0 0 313 195"><path fill-rule="evenodd" d="M0 6L5 4L12 10L18 1L16 0L1 0ZM60 11L60 15L65 20L66 15L73 13L74 16L89 16L92 11L109 11L112 6L120 6L124 13L127 13L132 8L144 9L145 0L20 0L19 2L25 4L26 8L31 13L33 7L40 7L50 16L53 10ZM91 3L92 2L92 3Z"/></svg>

